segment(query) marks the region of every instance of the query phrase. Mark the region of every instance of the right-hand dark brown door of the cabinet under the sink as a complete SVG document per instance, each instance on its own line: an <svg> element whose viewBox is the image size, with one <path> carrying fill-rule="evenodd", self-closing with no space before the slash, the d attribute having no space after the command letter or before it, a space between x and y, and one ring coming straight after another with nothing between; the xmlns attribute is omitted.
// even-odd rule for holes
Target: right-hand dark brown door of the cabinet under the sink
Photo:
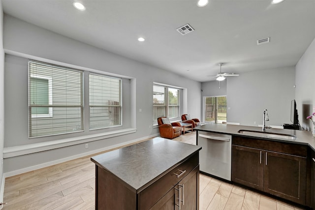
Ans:
<svg viewBox="0 0 315 210"><path fill-rule="evenodd" d="M306 158L266 151L264 191L305 205Z"/></svg>

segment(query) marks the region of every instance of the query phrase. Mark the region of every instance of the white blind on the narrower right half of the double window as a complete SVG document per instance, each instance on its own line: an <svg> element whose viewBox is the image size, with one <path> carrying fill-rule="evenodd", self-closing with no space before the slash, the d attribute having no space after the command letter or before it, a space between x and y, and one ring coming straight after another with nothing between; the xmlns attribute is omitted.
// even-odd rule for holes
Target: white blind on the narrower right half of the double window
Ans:
<svg viewBox="0 0 315 210"><path fill-rule="evenodd" d="M122 80L89 74L90 130L121 125Z"/></svg>

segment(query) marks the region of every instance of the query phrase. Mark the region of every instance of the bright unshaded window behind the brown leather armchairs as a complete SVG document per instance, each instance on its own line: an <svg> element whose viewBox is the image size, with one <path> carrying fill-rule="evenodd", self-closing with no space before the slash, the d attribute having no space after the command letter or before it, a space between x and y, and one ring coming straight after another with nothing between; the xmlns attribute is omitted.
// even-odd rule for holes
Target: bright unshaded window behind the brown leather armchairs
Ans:
<svg viewBox="0 0 315 210"><path fill-rule="evenodd" d="M153 85L153 121L159 117L174 119L179 117L180 89Z"/></svg>

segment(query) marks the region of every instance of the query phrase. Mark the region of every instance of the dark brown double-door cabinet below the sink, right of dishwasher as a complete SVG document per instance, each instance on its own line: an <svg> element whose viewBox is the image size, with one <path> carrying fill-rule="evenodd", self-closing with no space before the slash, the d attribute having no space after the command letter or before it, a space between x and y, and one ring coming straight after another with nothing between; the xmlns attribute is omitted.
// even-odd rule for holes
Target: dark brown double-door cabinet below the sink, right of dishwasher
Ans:
<svg viewBox="0 0 315 210"><path fill-rule="evenodd" d="M307 145L233 136L232 181L306 205L307 153ZM312 171L314 180L314 163Z"/></svg>

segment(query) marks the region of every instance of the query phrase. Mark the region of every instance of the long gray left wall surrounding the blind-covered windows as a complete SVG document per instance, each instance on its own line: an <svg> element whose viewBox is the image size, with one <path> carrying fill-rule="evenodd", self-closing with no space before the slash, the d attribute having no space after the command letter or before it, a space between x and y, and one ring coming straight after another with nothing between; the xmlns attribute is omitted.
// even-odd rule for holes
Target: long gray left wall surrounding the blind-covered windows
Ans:
<svg viewBox="0 0 315 210"><path fill-rule="evenodd" d="M199 107L201 107L201 83L199 82L195 82L168 71L109 53L105 50L64 37L52 31L39 28L8 15L4 15L3 32L3 48L7 53L14 52L23 55L21 57L34 56L42 59L54 60L71 65L82 66L84 68L91 68L135 78L129 83L129 92L131 93L129 95L127 94L123 96L125 97L123 98L123 103L125 103L124 100L130 101L130 107L126 107L124 112L129 112L129 125L132 127L135 126L137 128L137 132L124 136L90 142L88 150L97 150L116 144L122 144L130 140L158 135L158 129L152 127L153 82L187 89L187 96L185 97L188 98L188 101L187 105L183 104L183 112L189 113L195 118L200 118ZM19 80L23 83L27 81L27 78L25 78L27 75L27 69L23 67L23 65L25 65L25 59L16 58L13 56L8 57L11 59L11 63L8 63L8 66L13 64L20 65L19 62L22 62L20 71L23 71L22 69L26 71L20 75L20 77L23 78L17 77L13 81L5 81L5 83L14 82L17 86L15 91L21 94L21 92L25 91L25 86L19 84L18 82ZM16 64L14 62L18 63ZM5 71L9 71L6 66ZM24 106L27 106L27 96L22 98L17 97L18 95L11 94L11 91L7 89L5 90L4 94L8 97L16 97L14 98L15 103L10 104L12 107L5 107L5 111L6 109L12 110L22 108L23 104ZM133 101L135 103L133 103ZM10 136L9 138L11 140L15 138L15 140L12 140L12 143L9 139L5 138L4 144L6 146L26 145L30 144L30 142L34 143L36 141L28 139L28 135L25 133L25 130L27 130L28 127L26 117L28 116L28 113L24 106L23 111L20 112L20 118L16 119L17 116L14 118L12 116L6 116L7 119L5 119L4 126L5 131L9 132L6 134L6 136ZM139 109L142 109L142 112L138 112ZM133 121L134 118L135 121ZM23 131L22 133L14 131L15 128L12 127L11 122L15 120L23 120L23 123L19 124L22 126L19 128L21 131ZM151 127L149 127L149 125L151 125ZM106 132L106 130L104 132ZM52 139L37 139L39 142L49 140ZM75 145L56 150L6 158L4 159L3 170L4 172L12 172L21 168L40 165L42 163L74 156L84 152L87 152L87 150L84 148L84 145Z"/></svg>

